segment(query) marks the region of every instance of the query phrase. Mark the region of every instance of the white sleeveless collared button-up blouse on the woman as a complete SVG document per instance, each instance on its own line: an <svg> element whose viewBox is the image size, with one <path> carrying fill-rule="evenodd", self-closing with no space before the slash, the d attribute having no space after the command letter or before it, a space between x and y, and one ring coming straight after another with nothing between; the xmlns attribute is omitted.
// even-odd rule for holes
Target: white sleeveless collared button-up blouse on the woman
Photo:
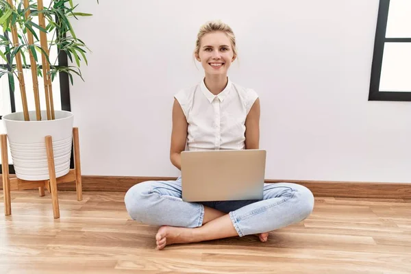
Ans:
<svg viewBox="0 0 411 274"><path fill-rule="evenodd" d="M188 122L188 150L245 149L245 119L257 98L254 90L230 80L219 95L204 81L177 92Z"/></svg>

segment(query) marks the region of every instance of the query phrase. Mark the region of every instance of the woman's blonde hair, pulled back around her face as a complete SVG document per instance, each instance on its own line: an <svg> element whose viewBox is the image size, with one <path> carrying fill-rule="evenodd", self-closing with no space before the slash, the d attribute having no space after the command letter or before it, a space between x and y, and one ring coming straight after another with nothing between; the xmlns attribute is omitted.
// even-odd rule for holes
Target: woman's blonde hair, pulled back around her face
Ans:
<svg viewBox="0 0 411 274"><path fill-rule="evenodd" d="M196 59L199 56L201 38L203 38L205 34L209 34L210 32L224 32L225 35L227 35L227 37L232 43L234 58L237 57L236 36L234 35L232 28L220 20L215 20L215 21L208 21L207 23L202 25L199 29L199 32L197 34L197 41L195 42L195 50L194 50L194 57Z"/></svg>

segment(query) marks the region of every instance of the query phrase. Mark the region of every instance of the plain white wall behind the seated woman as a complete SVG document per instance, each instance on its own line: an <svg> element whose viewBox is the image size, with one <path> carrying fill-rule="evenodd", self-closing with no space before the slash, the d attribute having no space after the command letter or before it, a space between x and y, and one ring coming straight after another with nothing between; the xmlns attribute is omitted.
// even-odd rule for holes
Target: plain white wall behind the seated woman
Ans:
<svg viewBox="0 0 411 274"><path fill-rule="evenodd" d="M367 101L377 0L79 3L94 14L73 24L93 51L71 88L84 175L179 175L173 95L201 80L197 30L221 18L229 77L260 94L267 179L411 182L411 102Z"/></svg>

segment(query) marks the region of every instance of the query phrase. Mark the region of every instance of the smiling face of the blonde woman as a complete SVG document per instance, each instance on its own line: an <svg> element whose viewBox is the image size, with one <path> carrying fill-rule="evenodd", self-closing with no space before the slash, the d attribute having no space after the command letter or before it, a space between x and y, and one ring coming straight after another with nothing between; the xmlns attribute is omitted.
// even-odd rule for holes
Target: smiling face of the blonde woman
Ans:
<svg viewBox="0 0 411 274"><path fill-rule="evenodd" d="M197 60L206 74L227 75L229 66L235 60L232 43L224 32L211 32L201 38Z"/></svg>

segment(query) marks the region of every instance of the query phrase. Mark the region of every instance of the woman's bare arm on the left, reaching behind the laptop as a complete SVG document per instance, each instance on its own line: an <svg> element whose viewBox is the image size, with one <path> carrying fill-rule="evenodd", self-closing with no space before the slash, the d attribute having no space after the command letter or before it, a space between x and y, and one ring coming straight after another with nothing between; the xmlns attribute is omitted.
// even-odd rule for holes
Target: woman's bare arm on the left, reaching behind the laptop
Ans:
<svg viewBox="0 0 411 274"><path fill-rule="evenodd" d="M187 141L187 120L181 105L177 99L174 99L173 104L173 130L171 132L170 160L171 163L182 169L181 153L186 149Z"/></svg>

